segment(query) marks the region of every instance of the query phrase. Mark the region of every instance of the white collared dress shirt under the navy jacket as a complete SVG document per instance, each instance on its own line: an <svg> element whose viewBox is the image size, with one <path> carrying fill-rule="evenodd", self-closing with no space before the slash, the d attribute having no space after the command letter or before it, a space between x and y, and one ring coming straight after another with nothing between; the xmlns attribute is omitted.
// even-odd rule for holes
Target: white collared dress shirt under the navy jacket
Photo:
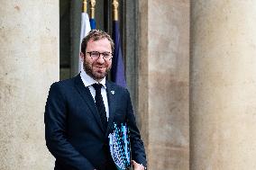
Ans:
<svg viewBox="0 0 256 170"><path fill-rule="evenodd" d="M97 82L95 79L88 76L84 69L81 69L80 76L82 78L82 81L83 81L84 85L89 88L94 100L95 100L95 97L96 97L96 90L92 85L93 84L98 84L98 83L103 85L102 88L101 88L101 95L102 95L103 102L104 102L104 105L105 105L106 120L108 121L109 108L108 108L108 102L107 102L107 96L106 96L105 77L101 82ZM95 102L96 102L96 100L95 100Z"/></svg>

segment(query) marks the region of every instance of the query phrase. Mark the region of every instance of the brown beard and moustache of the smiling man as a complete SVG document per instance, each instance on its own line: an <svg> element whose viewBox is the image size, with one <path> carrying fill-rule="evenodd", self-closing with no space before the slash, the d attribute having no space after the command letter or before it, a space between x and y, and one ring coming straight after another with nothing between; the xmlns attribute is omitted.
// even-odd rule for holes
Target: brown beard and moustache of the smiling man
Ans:
<svg viewBox="0 0 256 170"><path fill-rule="evenodd" d="M105 71L96 71L94 70L94 67L97 67L96 63L88 63L86 59L84 59L83 62L83 67L85 72L87 73L88 76L91 76L95 80L101 80L103 79L110 71L111 67L108 67L106 64L103 64L99 67L105 67Z"/></svg>

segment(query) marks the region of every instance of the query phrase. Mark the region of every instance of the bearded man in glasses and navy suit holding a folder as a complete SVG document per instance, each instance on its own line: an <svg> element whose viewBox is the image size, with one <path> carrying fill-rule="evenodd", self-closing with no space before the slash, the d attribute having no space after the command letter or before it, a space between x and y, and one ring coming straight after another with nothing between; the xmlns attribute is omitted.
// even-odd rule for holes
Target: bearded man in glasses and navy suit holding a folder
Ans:
<svg viewBox="0 0 256 170"><path fill-rule="evenodd" d="M115 170L108 134L114 123L130 128L134 170L146 156L127 89L108 82L114 42L104 31L90 31L82 41L83 68L74 78L50 86L45 106L45 139L56 158L55 170Z"/></svg>

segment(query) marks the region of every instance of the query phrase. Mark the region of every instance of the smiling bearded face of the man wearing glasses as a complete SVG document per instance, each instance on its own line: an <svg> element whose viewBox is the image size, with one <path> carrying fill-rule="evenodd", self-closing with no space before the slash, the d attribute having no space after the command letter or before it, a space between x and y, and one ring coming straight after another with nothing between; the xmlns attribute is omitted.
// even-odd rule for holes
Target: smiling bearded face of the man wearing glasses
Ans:
<svg viewBox="0 0 256 170"><path fill-rule="evenodd" d="M81 53L81 58L84 61L84 70L88 76L91 76L96 81L101 81L110 71L112 66L111 58L104 58L100 54L99 58L91 58L90 54L87 52L97 51L100 53L112 53L111 45L109 40L89 40L87 43L86 53Z"/></svg>

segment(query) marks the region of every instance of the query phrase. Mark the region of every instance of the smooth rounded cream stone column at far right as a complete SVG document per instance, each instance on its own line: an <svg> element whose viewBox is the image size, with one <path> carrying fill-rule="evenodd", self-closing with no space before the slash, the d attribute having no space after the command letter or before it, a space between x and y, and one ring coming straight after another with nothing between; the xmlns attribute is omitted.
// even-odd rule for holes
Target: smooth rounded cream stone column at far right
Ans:
<svg viewBox="0 0 256 170"><path fill-rule="evenodd" d="M191 170L256 168L256 1L191 1Z"/></svg>

